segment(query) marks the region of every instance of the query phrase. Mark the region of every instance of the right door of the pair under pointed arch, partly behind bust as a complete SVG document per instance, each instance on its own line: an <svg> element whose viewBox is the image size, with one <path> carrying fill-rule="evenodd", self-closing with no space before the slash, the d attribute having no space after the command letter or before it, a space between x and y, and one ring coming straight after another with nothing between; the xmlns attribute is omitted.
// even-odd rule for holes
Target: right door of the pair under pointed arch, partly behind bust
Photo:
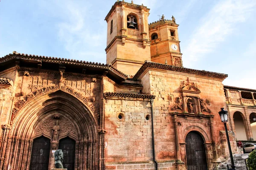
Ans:
<svg viewBox="0 0 256 170"><path fill-rule="evenodd" d="M69 137L61 139L58 149L63 152L63 167L67 170L75 170L76 141Z"/></svg>

